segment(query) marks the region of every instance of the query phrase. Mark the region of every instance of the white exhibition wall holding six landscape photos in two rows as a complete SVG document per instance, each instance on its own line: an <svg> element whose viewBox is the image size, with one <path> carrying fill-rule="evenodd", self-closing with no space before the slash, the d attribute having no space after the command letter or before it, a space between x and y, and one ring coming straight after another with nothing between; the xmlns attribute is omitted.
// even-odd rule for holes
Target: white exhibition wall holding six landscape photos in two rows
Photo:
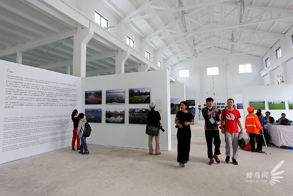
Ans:
<svg viewBox="0 0 293 196"><path fill-rule="evenodd" d="M161 124L165 129L165 132L160 132L160 149L171 150L170 74L167 70L86 77L81 81L81 109L102 109L101 123L90 123L92 132L87 143L149 149L146 125L129 124L129 109L149 108L149 104L130 104L129 89L150 88L150 101L156 103L156 110L161 114ZM106 90L116 89L125 89L125 104L106 104ZM102 91L102 104L85 105L84 92L98 90ZM124 124L105 123L106 109L124 109Z"/></svg>

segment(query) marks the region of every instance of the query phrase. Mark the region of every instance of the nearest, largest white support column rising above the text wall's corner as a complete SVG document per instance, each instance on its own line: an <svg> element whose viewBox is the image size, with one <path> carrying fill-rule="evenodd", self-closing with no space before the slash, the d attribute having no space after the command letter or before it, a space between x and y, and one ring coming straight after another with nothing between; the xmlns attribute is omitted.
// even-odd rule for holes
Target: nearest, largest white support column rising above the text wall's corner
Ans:
<svg viewBox="0 0 293 196"><path fill-rule="evenodd" d="M91 28L81 29L73 37L73 71L72 75L86 77L86 44L93 37Z"/></svg>

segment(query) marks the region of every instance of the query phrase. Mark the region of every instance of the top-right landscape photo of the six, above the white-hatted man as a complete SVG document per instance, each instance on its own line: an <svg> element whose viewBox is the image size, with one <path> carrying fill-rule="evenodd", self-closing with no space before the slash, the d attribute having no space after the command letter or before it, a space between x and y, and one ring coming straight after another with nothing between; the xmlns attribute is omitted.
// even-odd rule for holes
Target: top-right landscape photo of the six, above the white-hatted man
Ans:
<svg viewBox="0 0 293 196"><path fill-rule="evenodd" d="M150 88L129 89L129 103L151 103Z"/></svg>

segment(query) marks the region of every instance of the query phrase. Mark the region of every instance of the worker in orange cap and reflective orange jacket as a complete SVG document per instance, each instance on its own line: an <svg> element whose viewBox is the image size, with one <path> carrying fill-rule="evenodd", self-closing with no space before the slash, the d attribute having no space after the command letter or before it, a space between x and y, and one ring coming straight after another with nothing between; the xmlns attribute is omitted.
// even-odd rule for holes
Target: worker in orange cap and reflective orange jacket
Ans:
<svg viewBox="0 0 293 196"><path fill-rule="evenodd" d="M253 107L248 107L248 115L245 117L245 128L246 128L246 133L248 133L250 137L250 147L251 147L251 152L260 152L260 153L265 153L263 152L263 127L261 126L258 116L253 114ZM254 144L254 137L258 139L258 143L255 149L255 144Z"/></svg>

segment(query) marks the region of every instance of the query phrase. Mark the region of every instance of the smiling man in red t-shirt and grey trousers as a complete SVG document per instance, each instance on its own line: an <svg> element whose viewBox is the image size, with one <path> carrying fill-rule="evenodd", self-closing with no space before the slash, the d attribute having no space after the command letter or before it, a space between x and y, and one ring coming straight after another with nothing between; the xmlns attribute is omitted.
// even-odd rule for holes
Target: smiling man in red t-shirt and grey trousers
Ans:
<svg viewBox="0 0 293 196"><path fill-rule="evenodd" d="M240 127L240 133L243 134L242 125L240 122L241 115L239 110L233 108L234 100L228 99L227 100L228 108L222 111L221 115L221 131L225 134L225 143L226 143L226 163L230 162L230 150L232 147L233 155L232 155L232 162L234 165L238 165L237 159L237 152L238 152L238 137L239 131L238 126ZM225 115L225 116L224 116ZM238 126L237 126L238 124ZM225 125L225 127L223 126Z"/></svg>

